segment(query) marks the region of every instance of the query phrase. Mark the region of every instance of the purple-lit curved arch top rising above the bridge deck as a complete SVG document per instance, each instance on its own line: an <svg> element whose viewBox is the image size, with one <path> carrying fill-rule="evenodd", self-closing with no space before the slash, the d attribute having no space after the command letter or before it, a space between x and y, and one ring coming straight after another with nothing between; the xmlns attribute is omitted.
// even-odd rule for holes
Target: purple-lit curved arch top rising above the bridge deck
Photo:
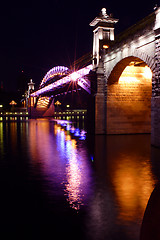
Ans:
<svg viewBox="0 0 160 240"><path fill-rule="evenodd" d="M64 67L64 66L56 66L50 69L46 75L44 76L40 87L42 85L45 85L50 79L54 78L55 76L64 76L69 72L69 68Z"/></svg>

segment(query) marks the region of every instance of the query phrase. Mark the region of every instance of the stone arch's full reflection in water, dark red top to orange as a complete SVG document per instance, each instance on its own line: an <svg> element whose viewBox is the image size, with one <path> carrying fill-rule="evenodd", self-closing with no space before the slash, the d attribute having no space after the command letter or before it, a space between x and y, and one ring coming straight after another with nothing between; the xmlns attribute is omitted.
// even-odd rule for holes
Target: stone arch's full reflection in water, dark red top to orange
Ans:
<svg viewBox="0 0 160 240"><path fill-rule="evenodd" d="M116 142L113 137L108 139L107 155L112 161L111 181L119 207L118 218L124 222L141 221L155 184L149 139L150 135L117 136ZM120 151L113 151L112 144Z"/></svg>

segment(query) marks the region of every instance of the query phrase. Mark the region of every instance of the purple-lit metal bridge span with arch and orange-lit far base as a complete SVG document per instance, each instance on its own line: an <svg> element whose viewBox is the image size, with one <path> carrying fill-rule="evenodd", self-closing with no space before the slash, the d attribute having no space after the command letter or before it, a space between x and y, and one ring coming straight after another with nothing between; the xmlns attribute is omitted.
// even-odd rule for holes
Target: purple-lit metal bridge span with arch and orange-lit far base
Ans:
<svg viewBox="0 0 160 240"><path fill-rule="evenodd" d="M52 68L44 76L39 90L30 94L29 111L32 117L53 116L55 99L83 89L91 93L91 83L87 75L92 70L92 64L77 71L71 71L64 66Z"/></svg>

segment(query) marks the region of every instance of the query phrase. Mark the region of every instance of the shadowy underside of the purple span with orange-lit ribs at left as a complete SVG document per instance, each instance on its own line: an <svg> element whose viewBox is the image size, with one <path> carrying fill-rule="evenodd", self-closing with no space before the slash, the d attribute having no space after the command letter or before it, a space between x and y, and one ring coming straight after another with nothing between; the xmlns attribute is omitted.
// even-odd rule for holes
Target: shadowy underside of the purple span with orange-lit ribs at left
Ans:
<svg viewBox="0 0 160 240"><path fill-rule="evenodd" d="M54 111L87 109L89 94L76 83L69 83L30 98L29 111L32 118L53 116ZM58 102L59 104L56 104Z"/></svg>

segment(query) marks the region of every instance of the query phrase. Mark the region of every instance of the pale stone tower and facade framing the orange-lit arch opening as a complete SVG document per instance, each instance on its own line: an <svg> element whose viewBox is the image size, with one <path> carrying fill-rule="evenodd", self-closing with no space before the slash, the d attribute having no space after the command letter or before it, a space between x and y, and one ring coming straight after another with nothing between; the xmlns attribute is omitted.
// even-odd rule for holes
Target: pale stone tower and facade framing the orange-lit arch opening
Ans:
<svg viewBox="0 0 160 240"><path fill-rule="evenodd" d="M151 143L160 147L160 7L155 8L150 15L114 38L114 25L117 21L118 19L102 11L90 24L93 26L92 64L97 74L97 91L93 95L95 133L108 134L107 101L110 85L118 82L121 73L131 61L142 61L152 71Z"/></svg>

